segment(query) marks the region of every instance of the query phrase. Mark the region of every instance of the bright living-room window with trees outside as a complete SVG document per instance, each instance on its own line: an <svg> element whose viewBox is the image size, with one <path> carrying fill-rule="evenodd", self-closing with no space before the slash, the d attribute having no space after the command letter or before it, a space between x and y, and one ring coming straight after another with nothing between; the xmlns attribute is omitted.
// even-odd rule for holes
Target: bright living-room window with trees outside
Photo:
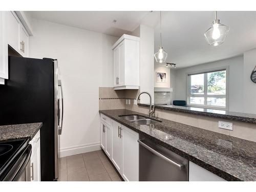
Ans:
<svg viewBox="0 0 256 192"><path fill-rule="evenodd" d="M226 69L188 75L188 104L226 109Z"/></svg>

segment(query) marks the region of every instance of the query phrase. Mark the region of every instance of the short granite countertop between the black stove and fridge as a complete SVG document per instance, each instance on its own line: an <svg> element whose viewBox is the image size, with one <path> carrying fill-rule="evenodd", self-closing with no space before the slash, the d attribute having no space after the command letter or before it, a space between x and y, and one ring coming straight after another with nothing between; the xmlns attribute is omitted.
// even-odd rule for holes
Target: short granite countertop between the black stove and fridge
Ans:
<svg viewBox="0 0 256 192"><path fill-rule="evenodd" d="M33 139L42 123L26 123L0 126L0 142L13 139Z"/></svg>

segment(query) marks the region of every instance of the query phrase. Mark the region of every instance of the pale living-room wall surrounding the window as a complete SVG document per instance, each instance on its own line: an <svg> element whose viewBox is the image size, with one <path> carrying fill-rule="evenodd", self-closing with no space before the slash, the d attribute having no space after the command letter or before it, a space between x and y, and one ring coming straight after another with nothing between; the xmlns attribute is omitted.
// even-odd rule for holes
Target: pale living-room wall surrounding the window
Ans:
<svg viewBox="0 0 256 192"><path fill-rule="evenodd" d="M175 71L175 100L187 100L187 73L229 66L229 111L243 112L243 56L204 63Z"/></svg>

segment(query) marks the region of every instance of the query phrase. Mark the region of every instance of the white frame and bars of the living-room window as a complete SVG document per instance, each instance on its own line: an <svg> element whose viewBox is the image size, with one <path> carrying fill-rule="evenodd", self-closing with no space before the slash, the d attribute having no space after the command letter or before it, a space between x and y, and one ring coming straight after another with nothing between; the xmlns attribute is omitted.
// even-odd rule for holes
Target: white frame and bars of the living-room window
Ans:
<svg viewBox="0 0 256 192"><path fill-rule="evenodd" d="M226 95L207 95L207 73L211 72L217 72L217 71L224 71L226 70ZM204 93L203 94L191 94L191 75L197 75L197 74L204 74ZM228 103L229 103L229 67L220 67L220 68L214 68L214 69L207 69L207 70L200 70L200 71L193 71L186 73L187 76L187 106L193 106L197 108L207 108L207 109L216 109L216 110L228 110ZM204 98L204 104L191 104L189 103L190 97L203 97ZM226 98L226 106L216 106L216 105L207 105L207 97L216 97L216 98Z"/></svg>

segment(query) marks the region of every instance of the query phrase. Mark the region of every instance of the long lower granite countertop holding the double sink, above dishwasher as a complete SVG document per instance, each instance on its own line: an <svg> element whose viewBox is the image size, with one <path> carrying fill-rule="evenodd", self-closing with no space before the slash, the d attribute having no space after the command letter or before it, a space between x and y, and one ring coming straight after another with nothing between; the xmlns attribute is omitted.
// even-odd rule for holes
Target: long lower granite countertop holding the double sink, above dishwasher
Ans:
<svg viewBox="0 0 256 192"><path fill-rule="evenodd" d="M130 110L100 113L142 134L170 151L228 181L256 181L256 142L160 119L161 123L138 125L120 115L145 114Z"/></svg>

